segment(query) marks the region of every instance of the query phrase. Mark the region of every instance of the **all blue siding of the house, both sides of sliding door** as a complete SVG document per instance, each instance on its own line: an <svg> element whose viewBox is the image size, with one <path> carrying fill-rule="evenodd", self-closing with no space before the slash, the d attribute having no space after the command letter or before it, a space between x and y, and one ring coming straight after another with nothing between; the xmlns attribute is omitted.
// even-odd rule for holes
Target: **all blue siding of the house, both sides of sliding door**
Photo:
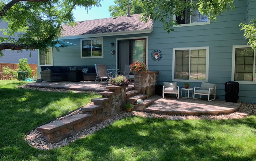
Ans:
<svg viewBox="0 0 256 161"><path fill-rule="evenodd" d="M104 58L81 59L80 39L65 39L76 46L60 48L60 52L54 50L54 65L87 65L106 64L108 68L116 68L116 55L112 57L110 43L114 43L116 50L116 38L144 37L148 36L148 68L159 71L158 84L163 81L172 81L173 48L178 47L204 47L209 46L209 83L217 84L219 99L225 99L224 84L231 81L232 50L233 45L246 45L247 40L240 30L241 22L256 18L256 0L237 0L235 10L218 16L217 22L207 25L174 27L174 31L167 34L163 30L161 22L153 22L154 29L149 34L134 34L104 37ZM162 59L153 61L151 52L155 49L162 51ZM38 73L41 71L38 68ZM184 82L178 82L180 88ZM190 83L190 87L200 87L201 83ZM256 85L240 84L240 100L256 103Z"/></svg>

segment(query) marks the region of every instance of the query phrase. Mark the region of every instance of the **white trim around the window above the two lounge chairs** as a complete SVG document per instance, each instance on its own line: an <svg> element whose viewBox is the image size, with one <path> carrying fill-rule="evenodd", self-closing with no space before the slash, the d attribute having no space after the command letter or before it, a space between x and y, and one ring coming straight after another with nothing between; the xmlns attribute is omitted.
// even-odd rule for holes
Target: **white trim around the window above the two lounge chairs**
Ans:
<svg viewBox="0 0 256 161"><path fill-rule="evenodd" d="M205 47L179 47L179 48L173 48L173 62L172 62L172 81L173 82L199 82L199 83L208 83L209 78L209 46ZM188 79L175 79L175 50L189 50L189 53L191 50L206 50L206 75L205 80L191 80L190 79L190 55L189 55L189 77Z"/></svg>

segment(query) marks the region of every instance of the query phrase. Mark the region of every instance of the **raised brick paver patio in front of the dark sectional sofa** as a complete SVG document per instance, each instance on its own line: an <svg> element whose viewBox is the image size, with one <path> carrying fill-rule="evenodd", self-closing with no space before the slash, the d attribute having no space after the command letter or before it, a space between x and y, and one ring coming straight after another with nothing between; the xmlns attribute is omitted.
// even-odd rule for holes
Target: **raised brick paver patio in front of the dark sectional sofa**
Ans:
<svg viewBox="0 0 256 161"><path fill-rule="evenodd" d="M106 85L101 85L101 83L95 86L94 81L81 81L81 82L42 82L42 83L28 83L30 87L41 87L41 88L59 88L59 89L72 89L72 90L82 90L82 91L95 91L103 92L108 91ZM129 87L134 87L134 84L129 85Z"/></svg>

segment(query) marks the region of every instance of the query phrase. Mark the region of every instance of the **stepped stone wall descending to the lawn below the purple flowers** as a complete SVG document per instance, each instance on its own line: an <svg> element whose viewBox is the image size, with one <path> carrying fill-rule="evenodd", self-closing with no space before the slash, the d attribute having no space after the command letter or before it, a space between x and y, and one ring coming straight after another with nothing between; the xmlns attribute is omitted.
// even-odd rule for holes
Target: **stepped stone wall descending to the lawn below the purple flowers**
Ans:
<svg viewBox="0 0 256 161"><path fill-rule="evenodd" d="M37 127L49 143L59 142L74 136L95 123L100 123L120 112L125 104L126 88L109 86L109 91L101 92L102 98L92 99L94 105L81 107L84 114L78 114L56 122Z"/></svg>

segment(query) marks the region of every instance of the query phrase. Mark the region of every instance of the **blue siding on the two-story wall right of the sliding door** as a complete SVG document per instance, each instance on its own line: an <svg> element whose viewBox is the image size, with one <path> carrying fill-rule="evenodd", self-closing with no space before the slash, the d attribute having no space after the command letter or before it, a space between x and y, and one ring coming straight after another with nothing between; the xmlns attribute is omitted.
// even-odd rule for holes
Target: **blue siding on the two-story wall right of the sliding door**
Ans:
<svg viewBox="0 0 256 161"><path fill-rule="evenodd" d="M253 5L252 5L253 4ZM172 81L172 52L177 47L210 47L209 54L209 83L217 84L219 99L225 99L224 84L231 81L232 46L246 45L248 41L243 37L239 24L249 18L255 18L256 1L238 0L235 10L218 16L217 22L210 25L175 27L167 34L161 22L153 22L154 30L149 36L148 56L155 49L163 53L160 61L148 61L150 70L159 70L158 84ZM251 12L252 11L252 12ZM184 82L178 82L184 87ZM200 87L201 83L190 83L190 87ZM240 100L256 103L256 85L240 84Z"/></svg>

